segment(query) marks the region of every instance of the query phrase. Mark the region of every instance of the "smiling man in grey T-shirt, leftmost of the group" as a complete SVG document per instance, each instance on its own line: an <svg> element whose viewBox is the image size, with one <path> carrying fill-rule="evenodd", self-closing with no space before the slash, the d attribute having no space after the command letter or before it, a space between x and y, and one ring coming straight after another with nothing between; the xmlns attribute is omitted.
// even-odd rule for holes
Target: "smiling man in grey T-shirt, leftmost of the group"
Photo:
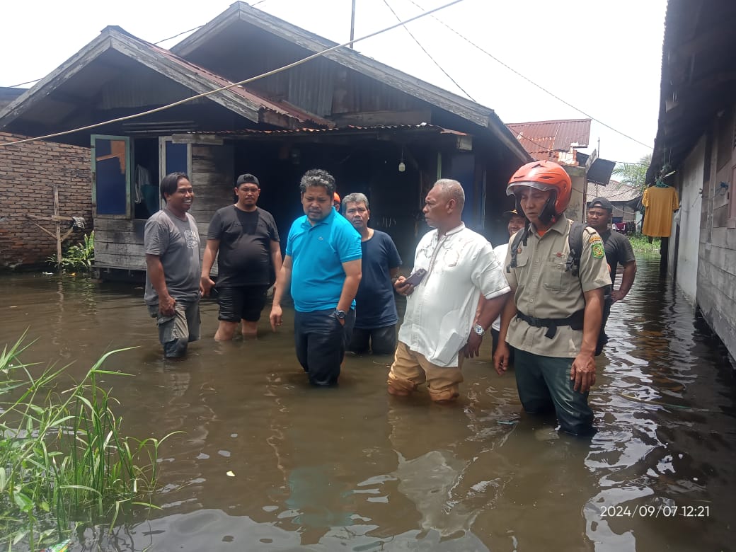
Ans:
<svg viewBox="0 0 736 552"><path fill-rule="evenodd" d="M180 358L199 339L199 232L188 213L194 189L182 172L163 177L160 189L166 207L146 221L144 233L144 298L164 356Z"/></svg>

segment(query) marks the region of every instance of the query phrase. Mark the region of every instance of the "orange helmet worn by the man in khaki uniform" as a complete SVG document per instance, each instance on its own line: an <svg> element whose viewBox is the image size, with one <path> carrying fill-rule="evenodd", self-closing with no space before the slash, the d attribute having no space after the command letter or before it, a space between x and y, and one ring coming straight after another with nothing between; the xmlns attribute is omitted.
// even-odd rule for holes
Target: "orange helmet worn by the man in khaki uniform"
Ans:
<svg viewBox="0 0 736 552"><path fill-rule="evenodd" d="M545 210L549 219L558 217L565 212L567 205L570 204L570 194L573 191L573 183L570 175L567 174L562 166L553 161L532 161L526 163L516 172L509 180L509 186L506 188L506 195L516 194L521 186L528 188L537 188L537 190L548 191L553 193ZM520 210L519 200L517 197L517 209ZM553 212L550 212L553 211ZM545 217L542 217L545 218Z"/></svg>

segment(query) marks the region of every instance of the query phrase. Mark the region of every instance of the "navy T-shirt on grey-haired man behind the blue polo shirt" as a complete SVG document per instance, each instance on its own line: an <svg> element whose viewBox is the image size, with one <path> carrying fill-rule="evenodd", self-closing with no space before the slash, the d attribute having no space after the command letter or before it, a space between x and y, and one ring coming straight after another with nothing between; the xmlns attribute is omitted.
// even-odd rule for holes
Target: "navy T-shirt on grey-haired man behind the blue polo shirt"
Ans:
<svg viewBox="0 0 736 552"><path fill-rule="evenodd" d="M401 266L401 257L391 236L373 230L361 241L361 284L355 294L355 328L384 328L399 321L390 270ZM393 351L392 351L393 353Z"/></svg>

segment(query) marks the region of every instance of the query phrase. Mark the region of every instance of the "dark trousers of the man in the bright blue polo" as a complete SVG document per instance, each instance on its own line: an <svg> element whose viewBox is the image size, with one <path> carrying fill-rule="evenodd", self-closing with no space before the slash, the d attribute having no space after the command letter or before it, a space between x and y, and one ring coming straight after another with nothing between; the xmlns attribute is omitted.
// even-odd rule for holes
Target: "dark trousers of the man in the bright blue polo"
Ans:
<svg viewBox="0 0 736 552"><path fill-rule="evenodd" d="M309 383L330 386L337 383L340 364L353 335L355 311L351 308L342 325L335 309L294 314L294 345L297 360L309 376Z"/></svg>

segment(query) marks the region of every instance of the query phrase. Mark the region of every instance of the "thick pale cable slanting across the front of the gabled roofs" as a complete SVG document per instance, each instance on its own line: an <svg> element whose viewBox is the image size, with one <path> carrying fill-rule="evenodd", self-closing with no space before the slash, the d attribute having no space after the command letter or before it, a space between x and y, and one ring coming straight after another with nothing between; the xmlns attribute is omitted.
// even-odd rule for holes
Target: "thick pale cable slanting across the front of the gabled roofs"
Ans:
<svg viewBox="0 0 736 552"><path fill-rule="evenodd" d="M210 96L211 94L216 93L216 92L222 92L224 90L227 90L229 88L233 88L235 86L245 85L245 84L247 84L249 82L253 82L253 81L258 80L258 79L263 79L265 77L271 77L272 75L275 75L275 74L280 73L282 71L286 71L286 70L291 69L291 68L294 68L296 66L300 66L303 63L307 63L310 60L314 60L316 57L320 57L320 56L322 56L324 54L327 54L329 52L333 52L333 50L344 48L345 46L350 45L350 43L360 42L361 40L366 40L367 38L372 38L372 37L374 37L376 35L381 35L384 32L388 32L388 31L390 31L392 29L396 29L399 26L406 25L407 23L411 23L411 21L417 21L417 19L420 19L422 17L425 17L426 15L430 15L432 13L439 12L439 10L444 10L445 8L450 7L450 6L453 6L454 4L459 4L461 1L464 1L464 0L452 0L450 2L447 2L447 4L443 4L442 6L433 8L432 10L428 10L426 12L420 13L419 15L414 15L414 17L408 18L408 19L406 19L404 21L399 21L397 24L394 24L394 25L391 25L391 26L387 26L385 29L381 29L381 30L378 30L378 31L375 31L375 32L371 32L370 34L365 35L365 36L363 36L361 38L355 38L353 40L348 40L347 42L342 43L342 44L336 44L335 46L331 46L330 48L325 49L325 50L322 50L321 52L316 52L314 54L311 54L311 55L309 55L307 57L302 58L301 60L297 60L294 63L289 63L286 66L279 67L277 69L273 69L272 71L266 71L266 73L262 73L260 75L256 75L255 77L250 77L249 79L244 79L244 80L241 80L239 82L233 82L233 83L231 83L231 84L229 84L227 86L222 86L220 88L215 88L214 90L210 90L208 92L197 94L196 96L191 96L189 98L180 99L178 102L173 102L173 103L168 104L168 105L162 105L160 107L155 107L154 109L142 111L141 113L134 113L132 115L128 115L128 116L124 116L124 117L113 118L113 119L110 119L109 121L102 121L100 123L88 124L85 127L79 127L79 128L75 128L75 129L72 129L72 130L64 130L63 132L54 132L53 134L47 134L47 135L43 135L43 136L36 136L35 138L25 138L24 140L17 140L15 142L4 142L3 144L0 144L0 147L13 146L14 144L24 144L26 142L32 142L32 141L36 141L36 140L46 140L46 138L56 138L57 136L64 136L64 135L68 135L68 134L73 134L74 132L81 132L82 130L91 130L93 128L102 127L105 124L113 124L113 123L119 123L119 122L122 122L122 121L130 121L131 119L142 117L142 116L146 116L146 115L151 115L152 113L159 113L160 111L164 111L164 110L170 109L171 107L176 107L177 105L183 105L183 104L186 104L188 102L191 102L191 101L193 101L195 99L199 99L199 98L204 98L206 96Z"/></svg>

